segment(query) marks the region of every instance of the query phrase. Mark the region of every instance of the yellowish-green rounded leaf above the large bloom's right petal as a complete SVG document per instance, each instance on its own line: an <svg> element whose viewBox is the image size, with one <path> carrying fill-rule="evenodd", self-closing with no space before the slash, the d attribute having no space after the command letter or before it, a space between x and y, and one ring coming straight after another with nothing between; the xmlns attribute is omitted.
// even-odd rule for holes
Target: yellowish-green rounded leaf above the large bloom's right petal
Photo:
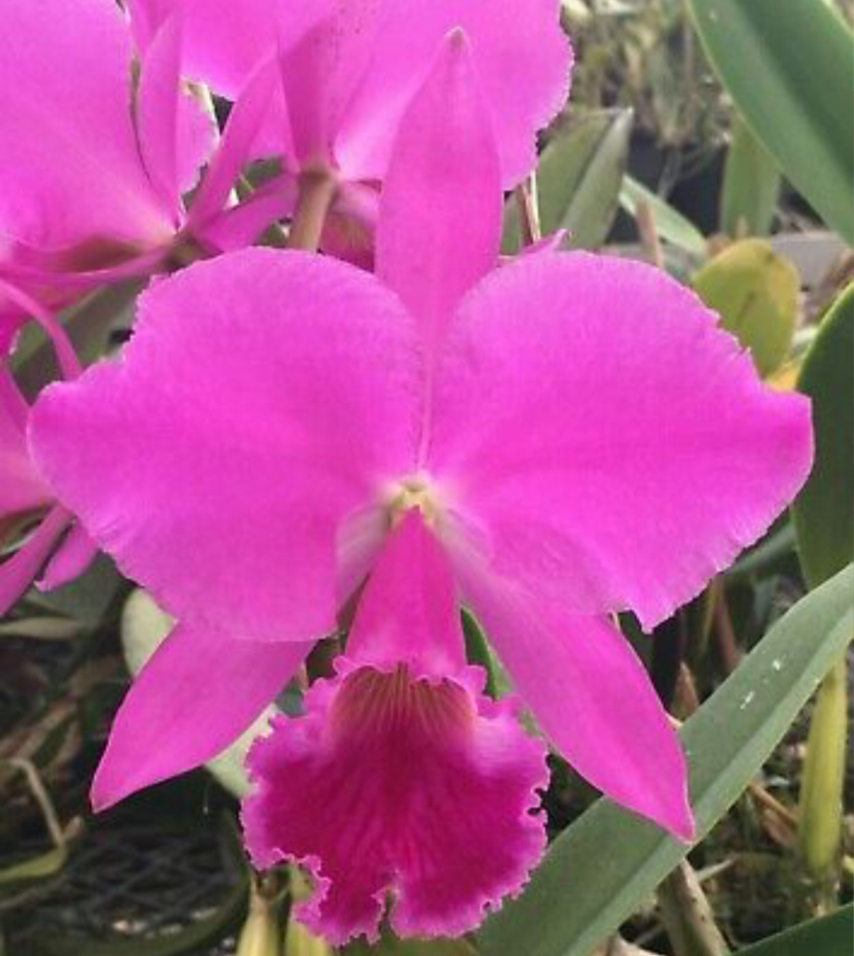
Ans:
<svg viewBox="0 0 854 956"><path fill-rule="evenodd" d="M721 325L750 349L756 370L771 375L789 354L798 320L798 270L763 239L742 239L693 277L694 291Z"/></svg>

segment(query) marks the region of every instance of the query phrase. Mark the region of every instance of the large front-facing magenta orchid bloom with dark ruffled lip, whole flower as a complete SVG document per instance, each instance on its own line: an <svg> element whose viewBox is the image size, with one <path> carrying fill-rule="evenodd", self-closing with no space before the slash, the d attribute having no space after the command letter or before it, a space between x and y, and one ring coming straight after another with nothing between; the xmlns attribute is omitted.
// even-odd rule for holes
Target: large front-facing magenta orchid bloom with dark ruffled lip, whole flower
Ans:
<svg viewBox="0 0 854 956"><path fill-rule="evenodd" d="M678 739L610 616L667 618L810 468L808 402L693 293L581 252L497 269L500 212L455 32L401 123L376 276L299 251L197 264L145 293L119 362L33 411L60 499L179 621L117 715L99 808L224 749L367 577L337 675L252 751L245 805L252 854L314 870L303 914L335 940L376 935L386 888L401 931L459 931L541 846L541 750L480 695L461 602L563 756L690 839Z"/></svg>

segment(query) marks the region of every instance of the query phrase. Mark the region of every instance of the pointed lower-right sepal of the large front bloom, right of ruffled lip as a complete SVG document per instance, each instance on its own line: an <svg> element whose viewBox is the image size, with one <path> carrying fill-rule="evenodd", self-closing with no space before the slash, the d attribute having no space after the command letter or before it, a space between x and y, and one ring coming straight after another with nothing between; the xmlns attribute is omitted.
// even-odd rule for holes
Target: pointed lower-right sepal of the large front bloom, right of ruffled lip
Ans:
<svg viewBox="0 0 854 956"><path fill-rule="evenodd" d="M572 767L617 803L689 841L679 738L628 641L469 561L457 571L516 690Z"/></svg>

